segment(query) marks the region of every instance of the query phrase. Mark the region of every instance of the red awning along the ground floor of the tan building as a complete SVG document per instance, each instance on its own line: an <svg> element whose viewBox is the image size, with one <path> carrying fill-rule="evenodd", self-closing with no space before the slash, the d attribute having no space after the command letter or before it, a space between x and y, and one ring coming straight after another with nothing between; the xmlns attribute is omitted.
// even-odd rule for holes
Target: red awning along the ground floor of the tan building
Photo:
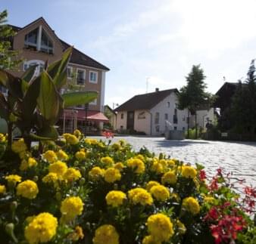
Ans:
<svg viewBox="0 0 256 244"><path fill-rule="evenodd" d="M64 115L62 119L73 119L77 120L85 120L86 119L86 111L85 110L64 110ZM87 111L87 120L90 121L98 121L98 122L108 122L108 118L101 112L98 111Z"/></svg>

